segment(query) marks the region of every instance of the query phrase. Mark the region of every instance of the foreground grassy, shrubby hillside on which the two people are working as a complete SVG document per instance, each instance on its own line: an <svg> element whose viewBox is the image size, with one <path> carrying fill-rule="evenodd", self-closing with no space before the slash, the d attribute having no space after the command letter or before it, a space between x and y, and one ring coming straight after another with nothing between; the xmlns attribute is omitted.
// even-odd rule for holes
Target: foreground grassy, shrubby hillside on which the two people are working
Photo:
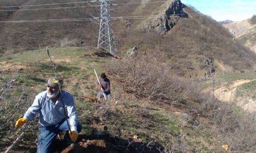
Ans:
<svg viewBox="0 0 256 153"><path fill-rule="evenodd" d="M141 74L147 72L144 83L143 80L139 81L140 78L135 79L138 89L141 83L147 87L137 92L137 88L131 88L131 73L125 71L133 66L126 64L131 63L129 59L99 57L97 55L104 53L90 47L49 49L58 75L65 80L63 88L75 97L82 124L78 145L74 149L65 149L67 146L60 136L54 141L56 152L64 149L65 152L223 152L224 144L229 145L231 151L242 152L252 151L255 146L255 137L252 136L256 127L253 114L244 112L233 103L212 99L211 90L202 94L197 87L200 82L198 84L170 75L169 66L159 62L160 59L144 63L144 60L150 58L141 58L138 65L134 64L138 70L136 78L143 77ZM1 90L4 98L0 99L0 150L5 151L23 131L25 136L13 148L13 152L34 152L38 118L21 131L15 131L13 123L31 105L34 96L45 90L46 79L54 75L46 49L9 55L0 58L0 61L0 85L5 89ZM104 67L106 63L109 68ZM145 68L145 64L149 67ZM107 72L112 82L113 97L110 103L96 103L90 98L98 92L94 68L98 73ZM123 71L119 71L120 68ZM168 75L163 77L158 72L162 69L167 70ZM152 73L155 75L152 76ZM244 75L247 78L234 74L220 79L226 83L241 78L255 80L253 74ZM156 79L161 82L155 83ZM125 81L129 84L125 84ZM6 83L10 83L9 89L5 88ZM155 88L159 84L160 90ZM204 85L212 86L211 80ZM219 86L218 82L216 85ZM143 96L151 92L151 89L155 89L150 93L151 96ZM234 131L236 135L233 135Z"/></svg>

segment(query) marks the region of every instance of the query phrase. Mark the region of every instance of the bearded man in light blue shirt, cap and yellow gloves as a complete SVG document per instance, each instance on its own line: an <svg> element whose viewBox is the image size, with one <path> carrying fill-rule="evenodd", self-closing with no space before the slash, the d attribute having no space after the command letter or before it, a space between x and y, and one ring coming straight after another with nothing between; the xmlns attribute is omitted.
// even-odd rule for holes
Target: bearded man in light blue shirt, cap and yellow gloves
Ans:
<svg viewBox="0 0 256 153"><path fill-rule="evenodd" d="M78 133L82 129L81 124L78 122L74 98L69 92L61 89L62 84L63 80L61 79L56 77L49 78L47 90L36 95L32 106L27 110L24 117L16 121L15 128L18 129L39 113L40 135L37 143L37 152L52 152L54 138L63 131L67 132L65 136L67 143L75 142Z"/></svg>

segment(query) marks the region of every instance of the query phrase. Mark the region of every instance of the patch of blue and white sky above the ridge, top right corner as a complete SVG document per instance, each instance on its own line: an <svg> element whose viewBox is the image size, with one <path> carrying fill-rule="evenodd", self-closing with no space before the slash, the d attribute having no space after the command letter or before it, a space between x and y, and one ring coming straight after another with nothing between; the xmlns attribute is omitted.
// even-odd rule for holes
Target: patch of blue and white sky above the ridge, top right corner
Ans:
<svg viewBox="0 0 256 153"><path fill-rule="evenodd" d="M256 15L256 0L181 0L217 21L242 21Z"/></svg>

